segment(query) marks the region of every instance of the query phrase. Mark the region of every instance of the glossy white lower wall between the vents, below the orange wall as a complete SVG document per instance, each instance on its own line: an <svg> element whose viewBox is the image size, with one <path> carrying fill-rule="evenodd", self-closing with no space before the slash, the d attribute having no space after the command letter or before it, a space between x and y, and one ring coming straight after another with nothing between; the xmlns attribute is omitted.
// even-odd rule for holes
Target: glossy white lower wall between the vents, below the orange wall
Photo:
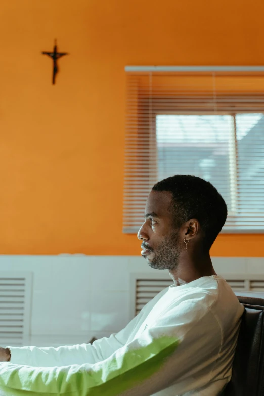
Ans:
<svg viewBox="0 0 264 396"><path fill-rule="evenodd" d="M212 257L218 274L264 274L264 258ZM33 273L28 344L72 345L121 330L130 318L130 274L151 269L136 256L0 256L0 271Z"/></svg>

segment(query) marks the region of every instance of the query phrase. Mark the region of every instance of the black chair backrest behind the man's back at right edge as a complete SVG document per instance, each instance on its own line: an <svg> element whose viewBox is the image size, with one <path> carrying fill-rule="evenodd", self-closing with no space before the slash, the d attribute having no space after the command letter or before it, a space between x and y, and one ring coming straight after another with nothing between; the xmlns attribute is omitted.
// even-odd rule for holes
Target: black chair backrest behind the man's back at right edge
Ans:
<svg viewBox="0 0 264 396"><path fill-rule="evenodd" d="M232 378L225 396L264 395L264 294L236 293L244 305Z"/></svg>

